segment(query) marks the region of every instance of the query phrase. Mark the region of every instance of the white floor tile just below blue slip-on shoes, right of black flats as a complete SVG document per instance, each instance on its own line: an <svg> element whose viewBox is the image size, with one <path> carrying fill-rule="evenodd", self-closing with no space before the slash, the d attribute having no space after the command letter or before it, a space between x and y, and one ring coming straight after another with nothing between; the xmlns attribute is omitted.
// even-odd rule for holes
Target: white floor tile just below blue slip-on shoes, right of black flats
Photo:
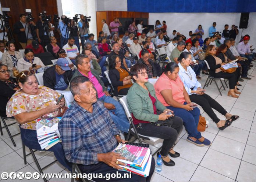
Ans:
<svg viewBox="0 0 256 182"><path fill-rule="evenodd" d="M175 145L175 151L181 154L181 158L189 160L193 163L199 164L203 159L207 148L196 146L184 139L181 139L177 145ZM175 158L171 158L175 160Z"/></svg>

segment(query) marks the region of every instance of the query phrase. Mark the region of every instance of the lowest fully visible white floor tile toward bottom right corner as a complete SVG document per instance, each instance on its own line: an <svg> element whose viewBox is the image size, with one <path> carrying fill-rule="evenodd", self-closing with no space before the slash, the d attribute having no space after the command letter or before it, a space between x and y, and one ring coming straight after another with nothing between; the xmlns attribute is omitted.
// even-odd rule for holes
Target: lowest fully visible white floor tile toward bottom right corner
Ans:
<svg viewBox="0 0 256 182"><path fill-rule="evenodd" d="M239 159L209 149L200 166L218 172L226 177L235 179L240 164Z"/></svg>

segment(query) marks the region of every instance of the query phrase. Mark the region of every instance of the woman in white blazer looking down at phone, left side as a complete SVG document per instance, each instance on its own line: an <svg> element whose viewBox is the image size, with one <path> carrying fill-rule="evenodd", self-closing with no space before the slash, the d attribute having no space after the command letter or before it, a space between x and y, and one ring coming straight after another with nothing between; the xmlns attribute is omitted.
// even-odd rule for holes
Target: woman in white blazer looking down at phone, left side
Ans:
<svg viewBox="0 0 256 182"><path fill-rule="evenodd" d="M39 57L34 57L34 52L32 49L25 49L25 57L22 57L18 60L17 69L19 72L21 71L30 71L30 70L38 70L40 67L45 67L43 62ZM33 64L36 64L33 67Z"/></svg>

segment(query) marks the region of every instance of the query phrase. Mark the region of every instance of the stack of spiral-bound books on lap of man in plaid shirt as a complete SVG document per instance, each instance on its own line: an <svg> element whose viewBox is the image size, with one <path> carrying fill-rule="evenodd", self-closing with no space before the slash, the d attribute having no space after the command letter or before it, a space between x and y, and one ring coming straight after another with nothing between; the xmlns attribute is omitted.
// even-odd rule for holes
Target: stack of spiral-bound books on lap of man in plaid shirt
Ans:
<svg viewBox="0 0 256 182"><path fill-rule="evenodd" d="M148 144L125 143L119 144L113 152L120 153L126 159L118 159L125 166L118 164L124 171L147 177L149 175L152 156Z"/></svg>

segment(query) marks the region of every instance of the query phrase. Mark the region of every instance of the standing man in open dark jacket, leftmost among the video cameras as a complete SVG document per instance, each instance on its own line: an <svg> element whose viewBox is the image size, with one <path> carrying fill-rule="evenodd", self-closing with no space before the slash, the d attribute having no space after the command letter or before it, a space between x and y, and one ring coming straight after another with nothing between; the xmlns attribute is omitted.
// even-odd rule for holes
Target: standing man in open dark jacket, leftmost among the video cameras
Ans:
<svg viewBox="0 0 256 182"><path fill-rule="evenodd" d="M36 24L33 21L28 23L26 21L26 15L20 14L19 21L13 26L13 31L15 34L17 34L19 44L21 44L23 49L25 49L26 45L32 44L33 41L31 30L29 29L29 24L32 24L34 28L36 28Z"/></svg>

